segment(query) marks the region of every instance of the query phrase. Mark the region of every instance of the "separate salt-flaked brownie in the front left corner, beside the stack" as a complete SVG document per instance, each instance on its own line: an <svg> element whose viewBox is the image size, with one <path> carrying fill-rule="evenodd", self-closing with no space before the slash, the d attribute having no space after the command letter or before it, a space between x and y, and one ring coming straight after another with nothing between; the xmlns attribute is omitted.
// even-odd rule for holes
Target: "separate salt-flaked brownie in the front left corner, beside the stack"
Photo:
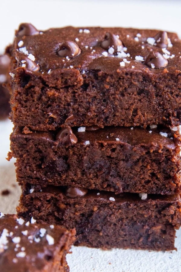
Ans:
<svg viewBox="0 0 181 272"><path fill-rule="evenodd" d="M0 213L1 271L69 271L65 255L75 240L75 230L37 224L33 217L30 222Z"/></svg>

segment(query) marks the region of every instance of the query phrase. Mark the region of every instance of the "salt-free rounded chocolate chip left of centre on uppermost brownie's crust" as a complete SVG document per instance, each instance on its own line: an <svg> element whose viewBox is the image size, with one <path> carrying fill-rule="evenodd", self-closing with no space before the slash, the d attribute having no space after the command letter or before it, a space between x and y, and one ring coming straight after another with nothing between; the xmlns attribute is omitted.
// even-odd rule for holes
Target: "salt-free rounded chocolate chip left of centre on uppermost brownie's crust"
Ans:
<svg viewBox="0 0 181 272"><path fill-rule="evenodd" d="M60 44L57 54L61 57L76 57L80 55L81 49L75 42L66 41Z"/></svg>

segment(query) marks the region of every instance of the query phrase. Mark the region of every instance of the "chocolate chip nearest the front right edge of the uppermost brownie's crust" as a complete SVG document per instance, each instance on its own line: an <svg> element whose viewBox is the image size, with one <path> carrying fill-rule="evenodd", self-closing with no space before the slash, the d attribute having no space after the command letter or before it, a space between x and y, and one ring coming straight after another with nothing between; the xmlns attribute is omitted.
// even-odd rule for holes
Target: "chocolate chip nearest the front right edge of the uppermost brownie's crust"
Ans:
<svg viewBox="0 0 181 272"><path fill-rule="evenodd" d="M162 68L168 65L168 60L159 52L152 51L147 55L144 64L151 68Z"/></svg>

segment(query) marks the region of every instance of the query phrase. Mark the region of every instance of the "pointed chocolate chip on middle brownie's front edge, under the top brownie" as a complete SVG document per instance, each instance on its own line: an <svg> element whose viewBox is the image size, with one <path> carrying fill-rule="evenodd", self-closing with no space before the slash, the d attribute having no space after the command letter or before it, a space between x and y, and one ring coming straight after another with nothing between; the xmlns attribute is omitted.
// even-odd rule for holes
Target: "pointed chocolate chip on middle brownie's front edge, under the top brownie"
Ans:
<svg viewBox="0 0 181 272"><path fill-rule="evenodd" d="M70 127L62 128L56 135L56 140L62 144L76 144L77 137L73 134Z"/></svg>

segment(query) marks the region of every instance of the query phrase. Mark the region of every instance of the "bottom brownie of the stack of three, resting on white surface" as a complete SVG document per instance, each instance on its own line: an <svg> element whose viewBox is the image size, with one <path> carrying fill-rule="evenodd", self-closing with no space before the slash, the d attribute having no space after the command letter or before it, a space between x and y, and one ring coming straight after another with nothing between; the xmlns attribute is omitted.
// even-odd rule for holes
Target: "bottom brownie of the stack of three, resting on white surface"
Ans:
<svg viewBox="0 0 181 272"><path fill-rule="evenodd" d="M69 196L66 196L69 195ZM79 195L79 196L78 196ZM144 198L144 196L141 196ZM179 195L148 195L47 187L21 196L19 216L76 228L75 245L95 248L172 250L181 222Z"/></svg>

